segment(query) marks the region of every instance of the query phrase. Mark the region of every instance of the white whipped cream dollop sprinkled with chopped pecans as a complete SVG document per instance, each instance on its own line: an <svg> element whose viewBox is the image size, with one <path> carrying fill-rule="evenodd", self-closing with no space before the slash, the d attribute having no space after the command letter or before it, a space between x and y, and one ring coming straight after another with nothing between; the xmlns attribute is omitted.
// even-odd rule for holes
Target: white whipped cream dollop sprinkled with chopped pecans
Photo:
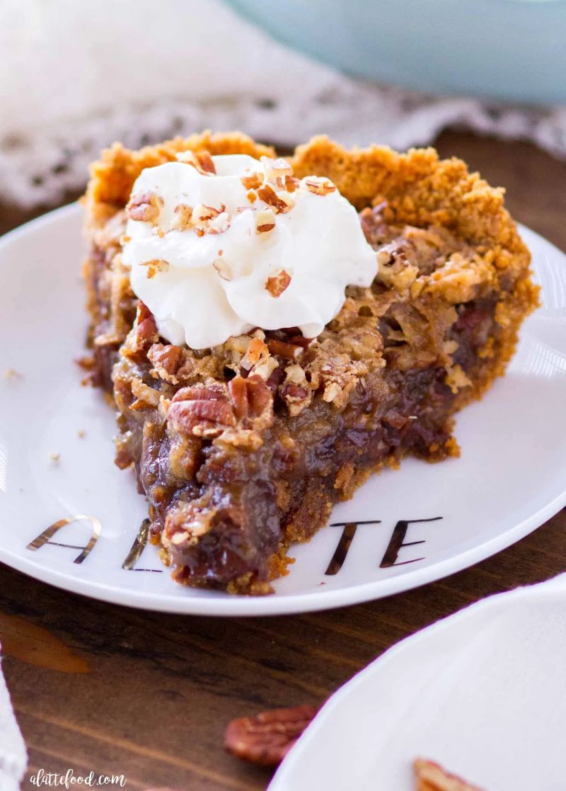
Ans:
<svg viewBox="0 0 566 791"><path fill-rule="evenodd" d="M123 261L165 339L203 349L254 327L314 338L345 287L377 271L354 207L285 160L179 154L145 168L127 206Z"/></svg>

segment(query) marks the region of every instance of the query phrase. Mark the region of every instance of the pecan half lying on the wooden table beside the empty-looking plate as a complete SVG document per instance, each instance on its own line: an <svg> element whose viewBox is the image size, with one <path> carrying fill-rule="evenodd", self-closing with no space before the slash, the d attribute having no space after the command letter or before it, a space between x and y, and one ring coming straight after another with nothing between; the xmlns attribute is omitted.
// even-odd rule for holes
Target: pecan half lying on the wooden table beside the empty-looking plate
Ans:
<svg viewBox="0 0 566 791"><path fill-rule="evenodd" d="M232 720L225 732L225 749L244 761L277 766L317 711L316 706L295 706Z"/></svg>

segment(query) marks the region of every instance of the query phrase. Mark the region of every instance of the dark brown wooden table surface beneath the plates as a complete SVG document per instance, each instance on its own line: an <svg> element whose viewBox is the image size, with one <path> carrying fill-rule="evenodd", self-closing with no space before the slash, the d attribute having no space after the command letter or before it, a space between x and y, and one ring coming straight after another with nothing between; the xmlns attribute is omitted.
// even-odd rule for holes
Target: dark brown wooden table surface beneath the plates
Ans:
<svg viewBox="0 0 566 791"><path fill-rule="evenodd" d="M437 146L508 187L515 218L566 249L566 162L525 143L457 132L444 133ZM4 207L0 230L24 219ZM564 570L565 511L470 570L314 615L154 614L75 596L0 566L2 664L29 753L24 788L34 787L29 775L42 767L124 774L131 789L265 789L268 770L222 749L233 717L323 702L423 626Z"/></svg>

